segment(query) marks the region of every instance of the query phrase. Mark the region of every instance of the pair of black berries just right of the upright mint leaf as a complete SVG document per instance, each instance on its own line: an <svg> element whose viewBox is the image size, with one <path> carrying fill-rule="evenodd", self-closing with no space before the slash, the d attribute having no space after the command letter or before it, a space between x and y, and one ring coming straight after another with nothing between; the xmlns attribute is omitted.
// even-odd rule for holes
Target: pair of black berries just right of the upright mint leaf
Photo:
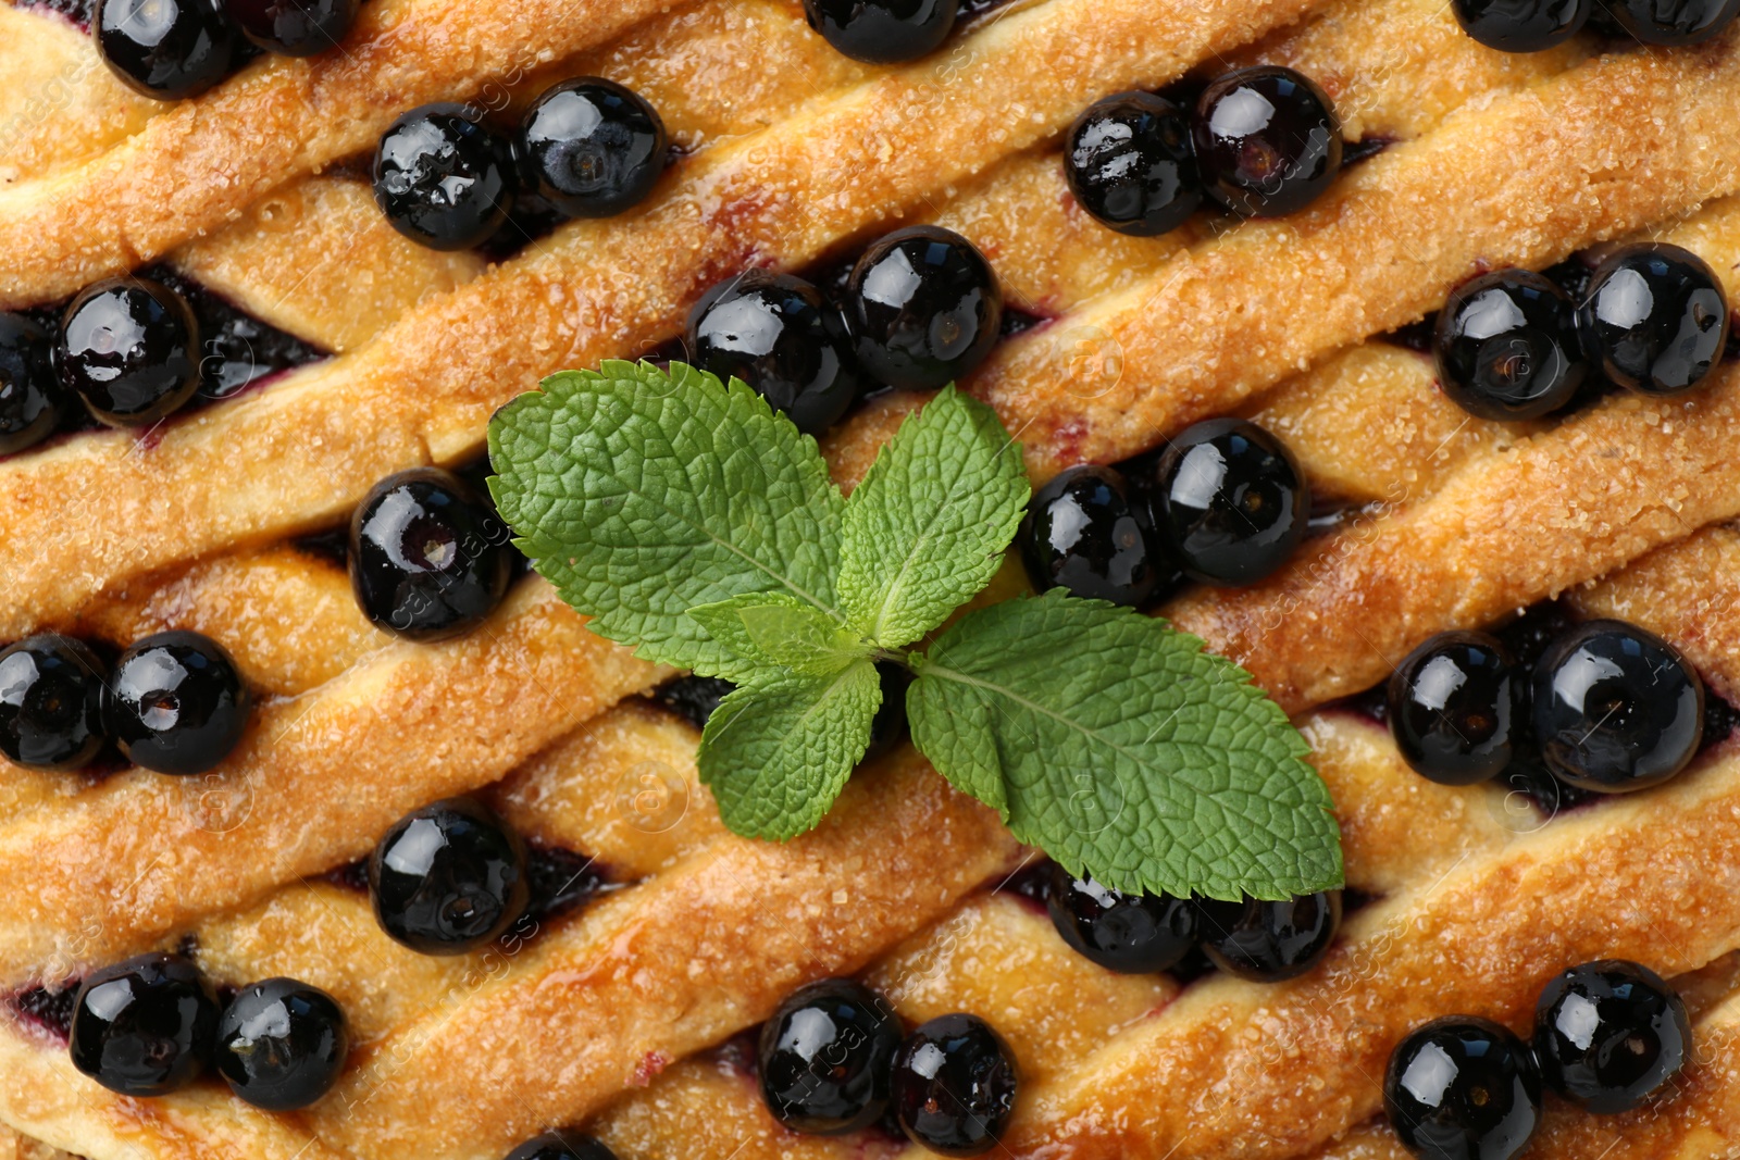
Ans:
<svg viewBox="0 0 1740 1160"><path fill-rule="evenodd" d="M1016 543L1034 588L1140 607L1183 577L1255 584L1305 539L1293 454L1244 419L1209 419L1117 468L1081 464L1034 492Z"/></svg>

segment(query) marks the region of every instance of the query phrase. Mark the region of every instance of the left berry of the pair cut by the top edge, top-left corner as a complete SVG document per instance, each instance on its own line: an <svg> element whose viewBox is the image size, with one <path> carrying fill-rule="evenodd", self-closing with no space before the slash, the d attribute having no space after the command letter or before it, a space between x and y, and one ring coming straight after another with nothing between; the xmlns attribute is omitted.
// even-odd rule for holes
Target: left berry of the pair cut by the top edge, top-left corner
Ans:
<svg viewBox="0 0 1740 1160"><path fill-rule="evenodd" d="M97 0L90 26L103 63L157 101L205 92L235 61L238 37L216 0Z"/></svg>

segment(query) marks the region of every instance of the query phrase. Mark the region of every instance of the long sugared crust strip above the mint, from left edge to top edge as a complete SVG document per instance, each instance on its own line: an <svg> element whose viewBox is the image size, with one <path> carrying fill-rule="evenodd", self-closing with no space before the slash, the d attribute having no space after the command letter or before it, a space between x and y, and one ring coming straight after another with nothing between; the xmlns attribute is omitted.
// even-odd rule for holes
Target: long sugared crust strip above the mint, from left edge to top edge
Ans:
<svg viewBox="0 0 1740 1160"><path fill-rule="evenodd" d="M85 435L0 464L0 503L14 513L0 572L16 577L0 635L64 617L141 570L332 520L393 470L470 454L515 393L552 370L644 350L719 277L809 261L936 181L1061 129L1103 87L1162 82L1302 5L1054 0L1009 16L947 57L708 150L646 210L571 223L355 355L171 424L150 445ZM974 104L962 104L973 115L912 117L948 90L973 90ZM1016 104L1027 117L1011 130ZM202 487L219 463L251 485ZM97 475L113 503L89 501ZM77 543L57 532L71 508L89 532Z"/></svg>

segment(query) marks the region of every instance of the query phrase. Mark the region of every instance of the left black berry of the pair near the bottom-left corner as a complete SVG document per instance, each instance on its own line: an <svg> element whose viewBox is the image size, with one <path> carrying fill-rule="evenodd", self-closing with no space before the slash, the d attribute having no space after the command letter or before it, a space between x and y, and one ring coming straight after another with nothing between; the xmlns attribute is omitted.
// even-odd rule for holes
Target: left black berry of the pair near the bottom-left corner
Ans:
<svg viewBox="0 0 1740 1160"><path fill-rule="evenodd" d="M73 1066L122 1096L186 1087L211 1063L218 1000L181 955L139 955L90 974L73 1002Z"/></svg>

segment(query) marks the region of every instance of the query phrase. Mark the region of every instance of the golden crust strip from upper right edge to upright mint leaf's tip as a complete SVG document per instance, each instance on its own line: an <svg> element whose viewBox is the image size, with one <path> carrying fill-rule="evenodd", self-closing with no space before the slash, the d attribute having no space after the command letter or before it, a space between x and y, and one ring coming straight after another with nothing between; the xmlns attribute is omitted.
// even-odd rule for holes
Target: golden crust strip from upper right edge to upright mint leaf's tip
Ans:
<svg viewBox="0 0 1740 1160"><path fill-rule="evenodd" d="M1599 57L1465 106L1305 212L1248 221L1053 323L1101 332L1122 376L1084 390L1051 329L1006 343L973 391L1049 477L1230 410L1336 348L1420 318L1484 266L1543 266L1730 193L1740 35ZM1616 169L1615 157L1625 163ZM1519 163L1538 158L1538 163Z"/></svg>

